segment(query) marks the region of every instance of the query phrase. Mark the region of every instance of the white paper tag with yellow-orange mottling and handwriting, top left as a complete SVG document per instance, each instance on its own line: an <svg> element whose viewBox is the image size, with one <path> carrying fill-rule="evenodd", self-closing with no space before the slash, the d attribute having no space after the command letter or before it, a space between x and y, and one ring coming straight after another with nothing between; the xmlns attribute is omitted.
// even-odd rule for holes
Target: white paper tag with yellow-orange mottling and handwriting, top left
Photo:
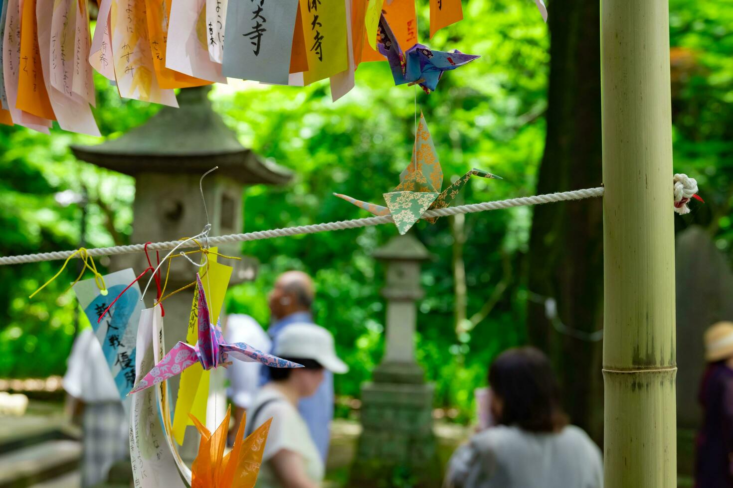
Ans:
<svg viewBox="0 0 733 488"><path fill-rule="evenodd" d="M155 77L145 0L112 0L109 20L119 96L177 107L173 90L161 89Z"/></svg>

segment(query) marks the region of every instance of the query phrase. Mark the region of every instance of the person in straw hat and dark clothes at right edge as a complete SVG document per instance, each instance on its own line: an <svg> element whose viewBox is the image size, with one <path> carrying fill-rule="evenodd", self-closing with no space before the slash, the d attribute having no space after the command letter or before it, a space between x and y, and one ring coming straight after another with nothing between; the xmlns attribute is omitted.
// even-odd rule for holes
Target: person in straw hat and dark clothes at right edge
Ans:
<svg viewBox="0 0 733 488"><path fill-rule="evenodd" d="M700 384L704 410L696 441L695 486L733 487L733 323L704 334L707 368Z"/></svg>

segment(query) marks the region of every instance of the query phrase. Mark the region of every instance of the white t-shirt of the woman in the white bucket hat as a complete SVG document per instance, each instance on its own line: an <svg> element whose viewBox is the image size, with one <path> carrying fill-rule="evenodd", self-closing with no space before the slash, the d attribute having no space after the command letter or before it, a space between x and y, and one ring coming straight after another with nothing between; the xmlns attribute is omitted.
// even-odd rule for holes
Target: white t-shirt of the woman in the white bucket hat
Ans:
<svg viewBox="0 0 733 488"><path fill-rule="evenodd" d="M266 405L265 402L267 402ZM259 405L264 406L259 408ZM308 426L301 414L298 413L298 409L280 391L270 385L263 386L257 391L254 402L252 402L252 406L247 413L250 415L257 413L257 418L248 415L248 433L262 425L268 418L273 419L272 424L270 424L268 440L265 443L265 452L262 455L262 468L259 469L257 488L276 488L280 486L268 461L282 449L301 455L306 476L311 481L315 484L320 484L323 481L325 468L308 431ZM250 424L251 422L254 422L254 424Z"/></svg>

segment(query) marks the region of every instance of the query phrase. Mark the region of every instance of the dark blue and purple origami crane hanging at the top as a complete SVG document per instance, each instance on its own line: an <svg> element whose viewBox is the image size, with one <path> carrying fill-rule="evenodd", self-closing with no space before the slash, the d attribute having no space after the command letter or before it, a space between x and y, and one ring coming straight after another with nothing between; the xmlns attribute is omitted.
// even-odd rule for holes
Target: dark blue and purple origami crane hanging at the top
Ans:
<svg viewBox="0 0 733 488"><path fill-rule="evenodd" d="M380 53L387 56L394 84L418 84L427 93L435 90L443 72L455 70L481 57L464 54L459 50L449 53L431 50L422 44L413 45L412 48L402 53L397 37L392 33L384 15L379 20L379 37L380 42L377 48Z"/></svg>

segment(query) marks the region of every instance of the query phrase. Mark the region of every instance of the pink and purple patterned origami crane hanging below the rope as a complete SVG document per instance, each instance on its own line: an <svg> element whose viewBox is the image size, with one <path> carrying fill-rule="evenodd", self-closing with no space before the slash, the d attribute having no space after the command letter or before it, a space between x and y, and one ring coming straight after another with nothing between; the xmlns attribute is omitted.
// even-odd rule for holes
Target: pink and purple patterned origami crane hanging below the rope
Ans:
<svg viewBox="0 0 733 488"><path fill-rule="evenodd" d="M219 365L227 364L229 357L240 361L259 361L270 367L276 368L298 368L301 364L281 359L271 354L263 353L244 342L227 344L221 334L220 323L216 327L211 325L209 318L209 307L206 303L204 285L202 285L199 274L196 273L196 286L198 290L198 319L199 319L199 340L195 346L179 341L158 364L155 364L150 372L139 381L137 386L130 391L130 394L150 388L163 380L180 375L187 367L199 361L204 369L216 368Z"/></svg>

